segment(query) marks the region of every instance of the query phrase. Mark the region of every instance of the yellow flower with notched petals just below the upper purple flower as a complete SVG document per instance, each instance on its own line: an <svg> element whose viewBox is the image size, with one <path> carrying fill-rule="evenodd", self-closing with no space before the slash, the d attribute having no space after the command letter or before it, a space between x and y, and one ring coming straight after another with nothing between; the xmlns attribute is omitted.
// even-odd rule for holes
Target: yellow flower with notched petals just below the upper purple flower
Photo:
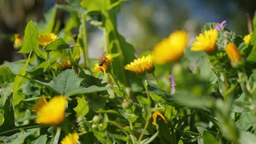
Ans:
<svg viewBox="0 0 256 144"><path fill-rule="evenodd" d="M215 43L218 38L218 30L210 29L205 31L204 34L200 33L196 37L196 42L192 44L192 51L205 51L207 53L212 52L215 49Z"/></svg>

